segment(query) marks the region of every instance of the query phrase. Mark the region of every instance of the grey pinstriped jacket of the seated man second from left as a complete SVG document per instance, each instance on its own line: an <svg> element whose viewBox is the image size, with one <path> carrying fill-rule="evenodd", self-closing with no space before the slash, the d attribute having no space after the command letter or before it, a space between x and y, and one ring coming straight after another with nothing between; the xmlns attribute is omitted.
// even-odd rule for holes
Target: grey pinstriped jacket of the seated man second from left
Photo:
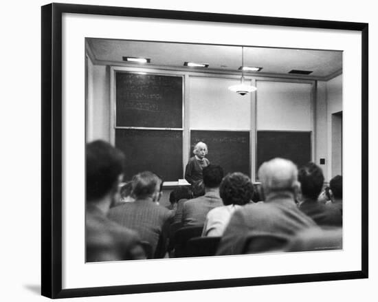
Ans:
<svg viewBox="0 0 378 302"><path fill-rule="evenodd" d="M173 218L173 213L167 208L155 204L151 199L137 199L111 208L108 217L126 228L136 230L142 241L151 244L153 255L159 243L162 250L159 250L157 257L164 257L168 226Z"/></svg>

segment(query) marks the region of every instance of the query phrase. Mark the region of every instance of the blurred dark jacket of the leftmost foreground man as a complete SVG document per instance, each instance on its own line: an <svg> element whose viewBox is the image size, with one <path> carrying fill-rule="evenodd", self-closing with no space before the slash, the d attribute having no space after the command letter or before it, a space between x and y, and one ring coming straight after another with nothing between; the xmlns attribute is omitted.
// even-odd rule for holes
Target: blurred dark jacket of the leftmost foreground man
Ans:
<svg viewBox="0 0 378 302"><path fill-rule="evenodd" d="M85 230L87 262L146 259L137 233L112 222L91 204L86 208Z"/></svg>

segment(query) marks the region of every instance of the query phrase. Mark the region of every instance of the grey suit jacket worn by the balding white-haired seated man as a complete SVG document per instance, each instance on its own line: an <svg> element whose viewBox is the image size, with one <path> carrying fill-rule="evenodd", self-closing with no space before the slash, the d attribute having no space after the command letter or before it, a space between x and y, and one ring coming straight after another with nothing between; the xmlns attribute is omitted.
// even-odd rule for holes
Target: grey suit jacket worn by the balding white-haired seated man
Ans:
<svg viewBox="0 0 378 302"><path fill-rule="evenodd" d="M292 193L271 193L265 202L247 204L234 212L216 255L243 254L247 236L253 233L289 238L313 226L315 222L298 209Z"/></svg>

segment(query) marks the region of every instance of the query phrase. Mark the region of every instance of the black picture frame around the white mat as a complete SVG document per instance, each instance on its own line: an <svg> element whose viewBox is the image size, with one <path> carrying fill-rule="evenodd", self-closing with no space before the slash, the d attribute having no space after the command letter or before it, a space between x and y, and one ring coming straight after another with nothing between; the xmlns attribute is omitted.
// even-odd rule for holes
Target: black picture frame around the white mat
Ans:
<svg viewBox="0 0 378 302"><path fill-rule="evenodd" d="M98 14L107 16L178 19L278 25L301 28L352 30L362 33L362 259L361 270L285 276L148 283L96 288L62 289L62 15ZM42 7L42 274L41 291L49 298L132 294L173 290L267 285L362 279L368 277L368 24L277 17L258 17L208 12L183 12L142 8L86 6L52 3Z"/></svg>

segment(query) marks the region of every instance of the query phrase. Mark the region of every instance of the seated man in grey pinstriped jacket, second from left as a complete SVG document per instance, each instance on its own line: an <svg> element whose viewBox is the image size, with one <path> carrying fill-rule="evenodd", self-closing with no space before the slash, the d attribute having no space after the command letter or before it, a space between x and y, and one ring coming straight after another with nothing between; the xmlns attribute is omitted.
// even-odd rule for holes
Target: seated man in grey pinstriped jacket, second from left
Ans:
<svg viewBox="0 0 378 302"><path fill-rule="evenodd" d="M135 201L111 208L108 217L122 226L136 230L142 241L151 244L155 257L164 257L172 213L158 204L162 196L162 179L145 171L135 175L132 182Z"/></svg>

